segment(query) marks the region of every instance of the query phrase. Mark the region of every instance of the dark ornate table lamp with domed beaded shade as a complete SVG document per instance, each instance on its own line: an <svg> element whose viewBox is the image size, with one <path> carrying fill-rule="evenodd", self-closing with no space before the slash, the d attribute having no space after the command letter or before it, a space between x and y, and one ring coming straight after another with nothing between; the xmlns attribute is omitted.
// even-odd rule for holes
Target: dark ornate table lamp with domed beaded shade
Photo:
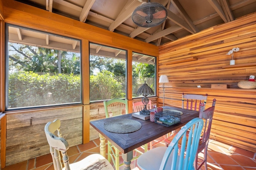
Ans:
<svg viewBox="0 0 256 170"><path fill-rule="evenodd" d="M150 111L146 108L148 105L149 99L147 98L148 95L154 95L154 91L145 83L138 89L137 95L144 96L142 98L142 103L144 105L144 109L140 111L140 115L150 115Z"/></svg>

